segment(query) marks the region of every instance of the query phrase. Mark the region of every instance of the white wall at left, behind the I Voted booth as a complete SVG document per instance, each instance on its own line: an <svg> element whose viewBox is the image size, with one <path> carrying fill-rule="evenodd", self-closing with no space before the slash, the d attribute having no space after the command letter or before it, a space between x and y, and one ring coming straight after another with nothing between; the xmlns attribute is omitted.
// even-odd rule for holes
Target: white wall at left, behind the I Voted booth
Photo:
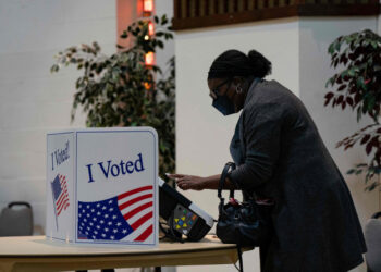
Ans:
<svg viewBox="0 0 381 272"><path fill-rule="evenodd" d="M46 133L70 124L79 72L50 74L53 55L97 40L114 52L115 1L0 0L0 208L29 201L45 226ZM73 126L84 127L84 114Z"/></svg>

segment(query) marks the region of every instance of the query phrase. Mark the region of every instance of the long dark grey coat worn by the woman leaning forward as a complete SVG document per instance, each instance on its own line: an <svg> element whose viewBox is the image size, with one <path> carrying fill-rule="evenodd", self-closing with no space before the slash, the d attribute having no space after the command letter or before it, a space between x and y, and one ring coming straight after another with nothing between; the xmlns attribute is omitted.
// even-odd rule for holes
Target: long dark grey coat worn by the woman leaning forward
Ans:
<svg viewBox="0 0 381 272"><path fill-rule="evenodd" d="M275 81L254 83L236 131L231 148L241 146L243 160L230 178L276 203L265 271L360 264L366 246L351 194L302 101Z"/></svg>

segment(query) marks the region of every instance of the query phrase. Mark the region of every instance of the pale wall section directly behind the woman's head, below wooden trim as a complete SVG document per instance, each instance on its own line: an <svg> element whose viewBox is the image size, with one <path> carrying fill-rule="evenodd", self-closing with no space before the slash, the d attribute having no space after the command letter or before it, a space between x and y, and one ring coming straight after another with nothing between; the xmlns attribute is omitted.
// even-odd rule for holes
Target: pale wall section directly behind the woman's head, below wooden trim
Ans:
<svg viewBox="0 0 381 272"><path fill-rule="evenodd" d="M229 144L237 114L224 118L211 107L207 73L211 62L228 49L256 49L273 63L276 78L299 90L298 22L296 18L177 32L176 55L176 168L177 173L219 174L231 161ZM212 190L186 191L217 218L218 198ZM259 271L258 250L244 254L245 268ZM181 267L179 271L235 271L233 265Z"/></svg>

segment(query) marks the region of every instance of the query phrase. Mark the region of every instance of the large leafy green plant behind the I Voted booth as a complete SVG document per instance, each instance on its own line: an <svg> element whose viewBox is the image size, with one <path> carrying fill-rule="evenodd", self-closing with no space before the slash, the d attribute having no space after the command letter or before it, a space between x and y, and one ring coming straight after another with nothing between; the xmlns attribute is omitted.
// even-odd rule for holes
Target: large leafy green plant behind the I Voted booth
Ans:
<svg viewBox="0 0 381 272"><path fill-rule="evenodd" d="M172 39L165 15L155 16L156 33L149 35L148 22L137 21L121 35L132 39L131 47L116 45L118 52L106 55L97 42L70 47L56 57L51 72L76 65L82 75L76 79L72 121L82 106L86 125L152 126L159 135L159 171L172 173L174 150L174 58L168 67L146 65L145 55L164 47Z"/></svg>

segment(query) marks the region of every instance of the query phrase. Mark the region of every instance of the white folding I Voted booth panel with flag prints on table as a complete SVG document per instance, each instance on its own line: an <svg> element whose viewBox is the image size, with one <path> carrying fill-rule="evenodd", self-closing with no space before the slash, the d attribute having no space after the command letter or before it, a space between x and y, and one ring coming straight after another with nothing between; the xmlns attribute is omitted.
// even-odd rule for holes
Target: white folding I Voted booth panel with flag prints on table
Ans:
<svg viewBox="0 0 381 272"><path fill-rule="evenodd" d="M158 136L151 127L47 135L47 237L158 245Z"/></svg>

